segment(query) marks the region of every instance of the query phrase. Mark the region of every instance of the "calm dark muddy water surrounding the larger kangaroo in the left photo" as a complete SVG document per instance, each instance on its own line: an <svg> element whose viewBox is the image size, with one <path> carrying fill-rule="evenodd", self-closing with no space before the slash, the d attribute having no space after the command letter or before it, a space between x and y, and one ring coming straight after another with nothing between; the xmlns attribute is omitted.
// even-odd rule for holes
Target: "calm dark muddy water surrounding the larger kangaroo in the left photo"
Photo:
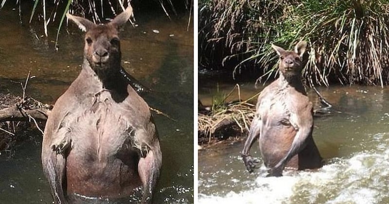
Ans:
<svg viewBox="0 0 389 204"><path fill-rule="evenodd" d="M153 112L163 153L155 203L193 203L193 26L186 31L189 14L170 21L156 13L138 12L138 27L125 26L122 65L155 91L142 94L145 101L175 119ZM31 70L27 96L54 103L81 70L83 33L63 27L55 51L55 27L41 37L40 27L19 24L11 8L1 10L0 25L0 92L21 95L17 82ZM40 161L42 136L31 137L17 143L13 157L0 155L0 203L52 203Z"/></svg>

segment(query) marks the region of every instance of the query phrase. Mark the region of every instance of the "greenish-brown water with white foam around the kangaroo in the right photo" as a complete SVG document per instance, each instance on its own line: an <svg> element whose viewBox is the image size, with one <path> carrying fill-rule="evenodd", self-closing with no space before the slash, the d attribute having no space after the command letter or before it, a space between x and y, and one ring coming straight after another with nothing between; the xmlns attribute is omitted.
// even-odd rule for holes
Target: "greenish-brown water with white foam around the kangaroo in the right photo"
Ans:
<svg viewBox="0 0 389 204"><path fill-rule="evenodd" d="M217 93L216 84L204 84L199 98L207 104ZM245 83L241 94L248 97L261 88ZM232 85L221 83L218 94L231 89ZM319 91L341 111L314 119L313 136L325 159L323 168L285 170L283 177L265 177L264 165L247 172L240 157L244 141L199 151L199 203L389 203L389 88L353 85ZM318 107L318 97L311 90L309 97ZM250 153L260 157L257 142Z"/></svg>

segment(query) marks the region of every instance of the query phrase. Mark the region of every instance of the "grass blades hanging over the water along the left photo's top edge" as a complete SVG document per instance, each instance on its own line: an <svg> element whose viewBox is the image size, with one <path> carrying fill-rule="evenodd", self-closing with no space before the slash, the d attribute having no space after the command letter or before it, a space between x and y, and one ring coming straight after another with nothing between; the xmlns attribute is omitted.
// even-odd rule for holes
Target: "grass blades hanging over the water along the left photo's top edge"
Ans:
<svg viewBox="0 0 389 204"><path fill-rule="evenodd" d="M21 4L33 4L29 23L33 20L42 20L44 33L48 36L48 25L57 22L58 35L64 22L66 13L76 14L78 16L88 16L93 22L102 22L106 17L116 16L131 2L131 5L140 6L140 0L34 0L34 1L16 1L19 9L19 17L21 16ZM170 13L177 15L176 7L185 10L191 10L193 0L141 0L142 4L156 4L161 7L167 17L170 18ZM7 0L0 0L0 11L4 7ZM9 2L15 3L15 1ZM41 13L39 13L41 11ZM38 14L35 14L38 13ZM21 17L20 17L21 18ZM43 19L42 19L43 18ZM189 24L189 23L188 23Z"/></svg>

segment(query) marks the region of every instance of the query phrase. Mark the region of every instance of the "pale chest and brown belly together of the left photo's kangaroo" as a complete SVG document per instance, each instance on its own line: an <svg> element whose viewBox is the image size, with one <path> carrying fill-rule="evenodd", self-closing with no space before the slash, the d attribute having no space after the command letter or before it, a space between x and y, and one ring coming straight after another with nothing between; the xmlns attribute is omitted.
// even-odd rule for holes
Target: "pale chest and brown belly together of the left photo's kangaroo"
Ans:
<svg viewBox="0 0 389 204"><path fill-rule="evenodd" d="M68 194L123 197L141 185L134 124L109 100L86 108L71 126L67 156ZM122 114L121 114L122 113Z"/></svg>

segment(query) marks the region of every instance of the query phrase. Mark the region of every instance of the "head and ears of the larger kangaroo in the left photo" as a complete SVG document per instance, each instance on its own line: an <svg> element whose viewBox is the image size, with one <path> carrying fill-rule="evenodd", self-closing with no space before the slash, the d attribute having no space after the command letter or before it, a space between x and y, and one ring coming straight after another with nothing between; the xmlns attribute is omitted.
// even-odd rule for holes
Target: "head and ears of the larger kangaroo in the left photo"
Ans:
<svg viewBox="0 0 389 204"><path fill-rule="evenodd" d="M106 24L94 24L83 17L66 14L68 19L86 32L84 58L88 60L90 67L96 72L109 73L120 68L121 51L118 30L133 16L132 7L116 16Z"/></svg>

